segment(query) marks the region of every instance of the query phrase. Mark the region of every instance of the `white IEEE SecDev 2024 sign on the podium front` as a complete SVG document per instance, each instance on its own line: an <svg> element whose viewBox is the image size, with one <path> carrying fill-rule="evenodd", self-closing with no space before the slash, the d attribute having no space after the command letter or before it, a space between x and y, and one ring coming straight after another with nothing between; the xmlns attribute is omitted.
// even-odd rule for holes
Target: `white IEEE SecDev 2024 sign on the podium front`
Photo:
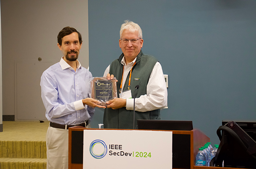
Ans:
<svg viewBox="0 0 256 169"><path fill-rule="evenodd" d="M84 130L83 169L172 169L172 131Z"/></svg>

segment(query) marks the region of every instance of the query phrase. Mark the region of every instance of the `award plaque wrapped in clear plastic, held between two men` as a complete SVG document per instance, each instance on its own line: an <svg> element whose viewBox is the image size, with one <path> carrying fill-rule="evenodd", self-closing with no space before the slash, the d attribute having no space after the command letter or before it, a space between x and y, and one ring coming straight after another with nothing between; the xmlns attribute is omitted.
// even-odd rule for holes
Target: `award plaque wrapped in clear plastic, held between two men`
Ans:
<svg viewBox="0 0 256 169"><path fill-rule="evenodd" d="M102 106L107 106L107 101L117 98L115 78L112 80L107 80L107 77L91 78L91 98L100 101Z"/></svg>

